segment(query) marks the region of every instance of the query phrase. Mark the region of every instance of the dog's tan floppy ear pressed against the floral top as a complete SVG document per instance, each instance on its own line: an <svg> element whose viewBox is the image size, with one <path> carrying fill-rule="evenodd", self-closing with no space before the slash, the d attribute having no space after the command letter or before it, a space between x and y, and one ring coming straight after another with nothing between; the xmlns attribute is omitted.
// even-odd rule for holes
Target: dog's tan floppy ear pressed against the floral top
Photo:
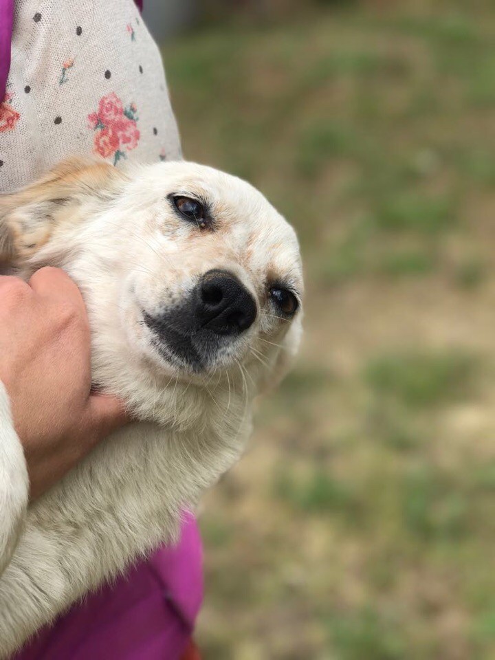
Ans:
<svg viewBox="0 0 495 660"><path fill-rule="evenodd" d="M34 184L0 195L0 263L28 259L54 232L81 221L85 203L109 201L122 181L125 175L104 161L72 158Z"/></svg>

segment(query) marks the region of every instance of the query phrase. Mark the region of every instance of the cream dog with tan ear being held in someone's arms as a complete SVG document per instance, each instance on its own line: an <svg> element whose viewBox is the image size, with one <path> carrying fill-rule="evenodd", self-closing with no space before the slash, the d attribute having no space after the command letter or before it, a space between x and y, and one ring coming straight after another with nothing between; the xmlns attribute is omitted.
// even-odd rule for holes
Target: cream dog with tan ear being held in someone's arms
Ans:
<svg viewBox="0 0 495 660"><path fill-rule="evenodd" d="M2 272L80 288L94 386L133 421L28 504L0 383L0 657L161 542L238 459L301 335L294 230L245 181L189 162L71 159L0 197ZM1 394L0 393L0 394Z"/></svg>

